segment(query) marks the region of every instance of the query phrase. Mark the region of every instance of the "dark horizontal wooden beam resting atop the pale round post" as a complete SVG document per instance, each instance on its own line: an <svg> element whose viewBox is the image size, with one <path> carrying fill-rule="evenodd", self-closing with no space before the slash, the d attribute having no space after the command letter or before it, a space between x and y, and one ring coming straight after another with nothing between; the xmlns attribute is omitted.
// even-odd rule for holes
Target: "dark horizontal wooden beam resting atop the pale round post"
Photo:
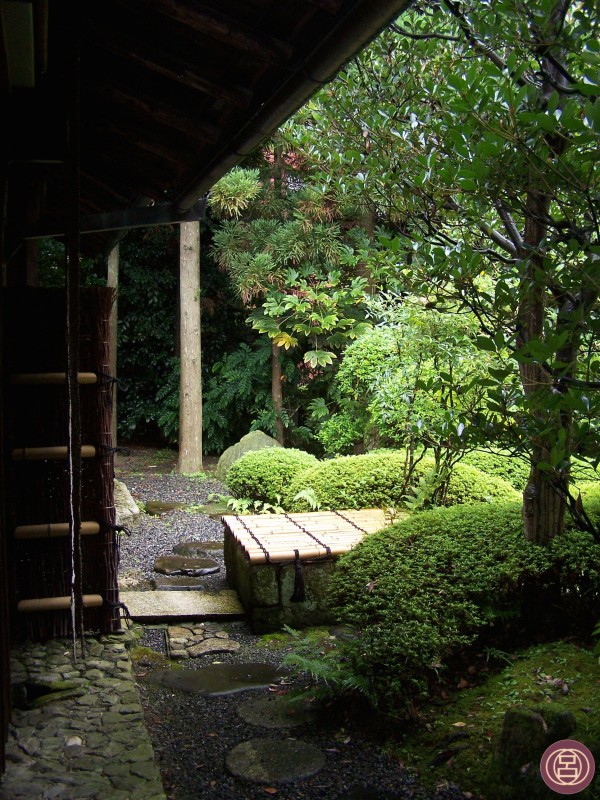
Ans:
<svg viewBox="0 0 600 800"><path fill-rule="evenodd" d="M181 222L196 222L204 217L207 199L199 200L188 212L181 214L172 203L143 208L126 208L122 211L109 211L104 214L89 214L81 218L80 232L106 233L130 228L149 228L155 225L178 225ZM24 239L42 239L48 236L64 236L64 230L56 226L40 223L29 230Z"/></svg>

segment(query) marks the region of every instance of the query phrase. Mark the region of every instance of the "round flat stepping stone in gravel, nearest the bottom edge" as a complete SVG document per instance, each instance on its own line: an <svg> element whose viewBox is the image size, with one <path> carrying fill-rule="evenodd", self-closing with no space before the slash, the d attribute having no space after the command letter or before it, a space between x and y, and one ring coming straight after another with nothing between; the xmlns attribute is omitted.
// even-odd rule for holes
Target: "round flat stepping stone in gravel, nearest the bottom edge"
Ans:
<svg viewBox="0 0 600 800"><path fill-rule="evenodd" d="M296 783L322 770L325 756L297 739L250 739L229 751L225 766L234 777L252 783Z"/></svg>

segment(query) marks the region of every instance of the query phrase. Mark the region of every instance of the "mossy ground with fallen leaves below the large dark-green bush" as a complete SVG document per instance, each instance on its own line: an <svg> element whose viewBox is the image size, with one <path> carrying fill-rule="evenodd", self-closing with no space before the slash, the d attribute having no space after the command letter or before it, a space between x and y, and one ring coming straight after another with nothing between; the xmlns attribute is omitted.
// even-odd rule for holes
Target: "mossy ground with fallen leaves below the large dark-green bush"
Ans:
<svg viewBox="0 0 600 800"><path fill-rule="evenodd" d="M504 668L492 670L485 653L474 656L473 663L456 675L456 686L462 688L425 706L402 741L390 743L399 760L418 773L420 783L434 787L451 782L474 797L493 800L489 765L504 713L513 707L572 712L577 721L574 737L590 748L598 763L597 655L571 642L552 642L506 658L509 663ZM578 796L598 798L600 785L596 781Z"/></svg>

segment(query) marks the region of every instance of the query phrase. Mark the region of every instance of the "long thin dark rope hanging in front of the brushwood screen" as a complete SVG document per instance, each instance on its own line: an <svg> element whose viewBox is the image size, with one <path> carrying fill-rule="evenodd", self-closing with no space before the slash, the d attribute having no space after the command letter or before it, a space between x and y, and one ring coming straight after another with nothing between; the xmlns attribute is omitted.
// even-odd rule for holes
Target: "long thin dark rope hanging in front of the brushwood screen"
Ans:
<svg viewBox="0 0 600 800"><path fill-rule="evenodd" d="M73 659L77 658L79 640L82 657L85 655L83 625L83 576L81 552L81 408L79 401L79 336L80 336L80 277L79 277L79 46L77 14L73 11L73 83L71 109L67 121L67 182L70 208L65 242L66 286L66 343L67 343L67 405L68 405L68 462L69 462L69 534L71 543L71 632Z"/></svg>

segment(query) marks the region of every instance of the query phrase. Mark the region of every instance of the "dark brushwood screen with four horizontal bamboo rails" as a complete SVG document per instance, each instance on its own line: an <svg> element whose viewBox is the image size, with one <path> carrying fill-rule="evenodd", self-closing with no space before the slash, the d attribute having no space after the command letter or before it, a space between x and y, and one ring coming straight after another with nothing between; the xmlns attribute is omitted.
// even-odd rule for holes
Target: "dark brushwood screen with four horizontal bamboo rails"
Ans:
<svg viewBox="0 0 600 800"><path fill-rule="evenodd" d="M111 289L81 298L82 574L86 630L119 627L118 543L108 375ZM9 289L4 296L6 545L11 618L31 639L71 630L69 472L62 290ZM51 600L50 598L55 598ZM40 604L39 600L44 602ZM45 610L38 610L45 607ZM54 607L54 610L52 608Z"/></svg>

